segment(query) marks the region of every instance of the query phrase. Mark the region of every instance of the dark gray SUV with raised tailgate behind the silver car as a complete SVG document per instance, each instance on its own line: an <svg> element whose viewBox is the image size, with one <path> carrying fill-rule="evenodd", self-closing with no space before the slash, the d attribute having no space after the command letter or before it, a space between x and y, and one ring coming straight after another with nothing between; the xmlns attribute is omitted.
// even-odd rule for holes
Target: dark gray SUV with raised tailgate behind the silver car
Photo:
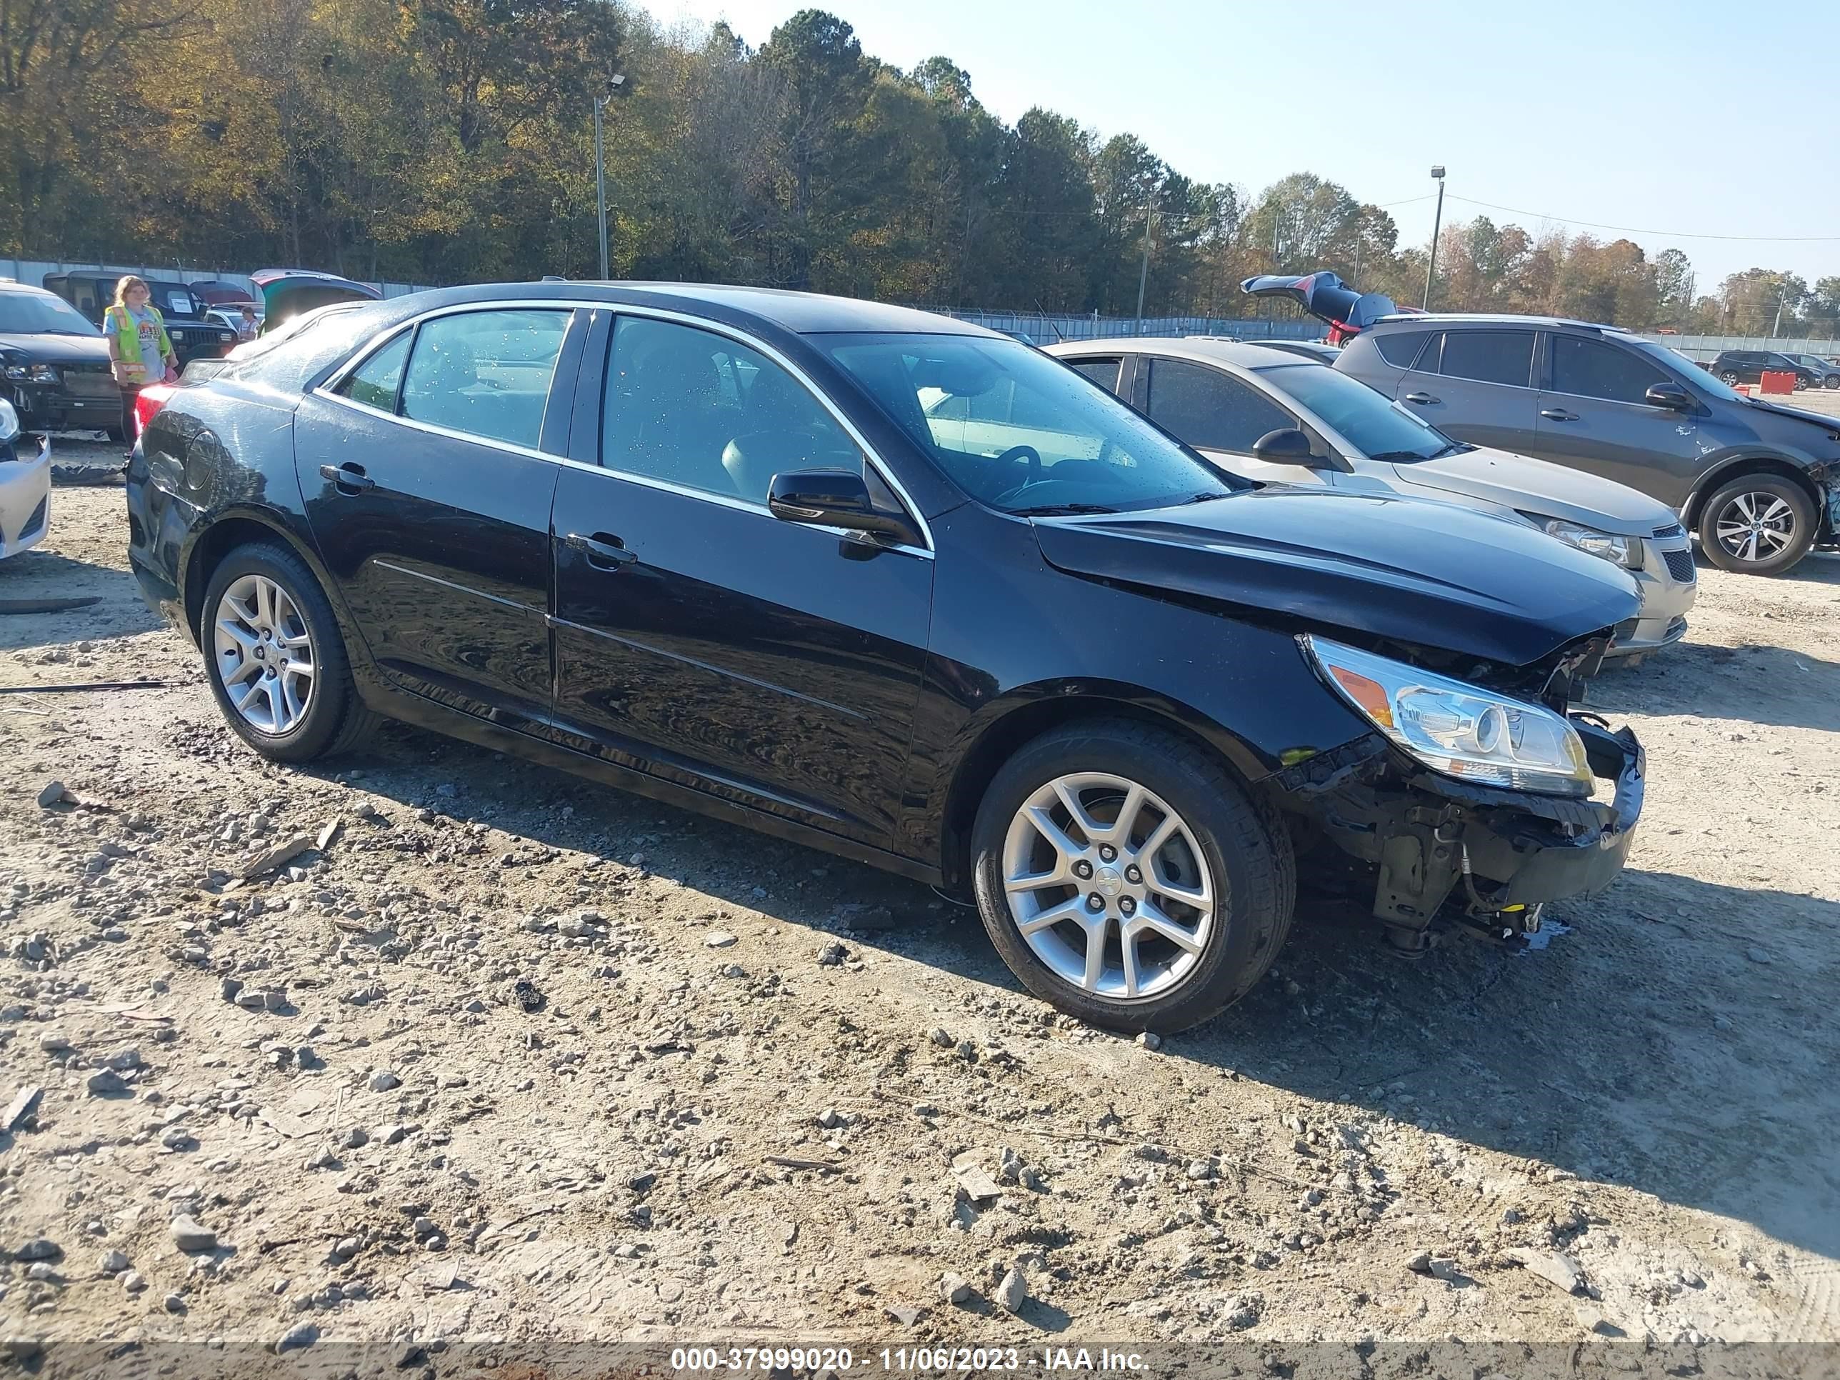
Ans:
<svg viewBox="0 0 1840 1380"><path fill-rule="evenodd" d="M1840 418L1744 397L1685 355L1547 316L1382 316L1336 368L1448 436L1641 489L1726 570L1840 548Z"/></svg>

